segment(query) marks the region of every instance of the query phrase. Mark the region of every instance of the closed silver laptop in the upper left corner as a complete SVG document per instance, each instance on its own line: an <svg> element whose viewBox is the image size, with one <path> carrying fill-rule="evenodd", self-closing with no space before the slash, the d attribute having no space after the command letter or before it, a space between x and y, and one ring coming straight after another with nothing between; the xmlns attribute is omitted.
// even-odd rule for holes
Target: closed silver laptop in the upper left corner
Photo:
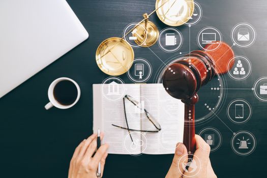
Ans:
<svg viewBox="0 0 267 178"><path fill-rule="evenodd" d="M88 38L65 0L1 0L0 26L0 98Z"/></svg>

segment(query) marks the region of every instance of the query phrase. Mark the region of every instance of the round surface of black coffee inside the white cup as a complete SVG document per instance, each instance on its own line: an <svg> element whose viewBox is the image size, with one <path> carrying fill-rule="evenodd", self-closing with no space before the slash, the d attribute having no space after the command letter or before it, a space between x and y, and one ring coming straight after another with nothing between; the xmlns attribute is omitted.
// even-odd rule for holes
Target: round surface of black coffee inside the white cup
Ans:
<svg viewBox="0 0 267 178"><path fill-rule="evenodd" d="M53 94L58 103L71 105L77 99L78 90L73 82L63 80L55 85Z"/></svg>

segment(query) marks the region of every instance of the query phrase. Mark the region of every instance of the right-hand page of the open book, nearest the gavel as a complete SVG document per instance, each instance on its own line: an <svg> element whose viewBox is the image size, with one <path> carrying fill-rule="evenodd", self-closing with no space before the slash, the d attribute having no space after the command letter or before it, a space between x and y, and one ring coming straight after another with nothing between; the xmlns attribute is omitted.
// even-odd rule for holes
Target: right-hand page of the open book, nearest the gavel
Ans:
<svg viewBox="0 0 267 178"><path fill-rule="evenodd" d="M171 97L162 84L141 84L141 97L145 108L161 126L158 133L145 133L147 145L145 154L173 154L177 142L183 142L184 103ZM156 130L144 116L141 117L142 130Z"/></svg>

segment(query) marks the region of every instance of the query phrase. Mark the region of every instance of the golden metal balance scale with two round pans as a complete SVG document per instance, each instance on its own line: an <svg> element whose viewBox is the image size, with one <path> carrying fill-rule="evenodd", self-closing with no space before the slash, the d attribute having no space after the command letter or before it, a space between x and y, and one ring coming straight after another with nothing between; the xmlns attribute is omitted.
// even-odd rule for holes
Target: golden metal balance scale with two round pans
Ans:
<svg viewBox="0 0 267 178"><path fill-rule="evenodd" d="M149 16L154 12L163 23L169 26L179 26L186 23L193 15L194 1L157 0L156 9L149 15L143 14L144 19L126 34L128 35L135 29L136 33L133 33L133 37L136 37L135 43L141 47L150 47L158 41L159 30L152 21L149 21ZM102 72L111 76L118 76L130 69L134 61L134 51L125 40L125 36L108 38L98 46L96 62Z"/></svg>

